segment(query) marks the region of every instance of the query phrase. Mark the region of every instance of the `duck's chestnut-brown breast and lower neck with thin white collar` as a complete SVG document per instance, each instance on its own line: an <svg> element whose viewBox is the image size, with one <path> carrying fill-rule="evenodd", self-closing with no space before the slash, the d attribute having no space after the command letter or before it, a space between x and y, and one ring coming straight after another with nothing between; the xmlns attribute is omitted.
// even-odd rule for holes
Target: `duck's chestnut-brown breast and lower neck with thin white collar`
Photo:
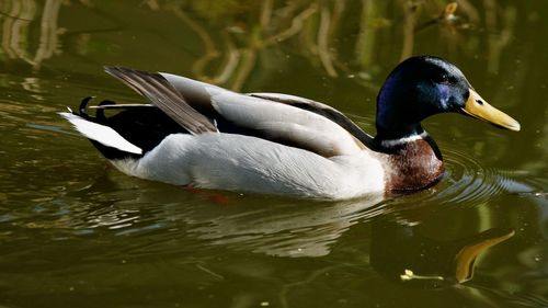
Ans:
<svg viewBox="0 0 548 308"><path fill-rule="evenodd" d="M422 130L422 128L421 128ZM385 179L387 190L410 192L437 183L444 173L442 153L430 135L402 136L397 139L375 137L377 150L386 160Z"/></svg>

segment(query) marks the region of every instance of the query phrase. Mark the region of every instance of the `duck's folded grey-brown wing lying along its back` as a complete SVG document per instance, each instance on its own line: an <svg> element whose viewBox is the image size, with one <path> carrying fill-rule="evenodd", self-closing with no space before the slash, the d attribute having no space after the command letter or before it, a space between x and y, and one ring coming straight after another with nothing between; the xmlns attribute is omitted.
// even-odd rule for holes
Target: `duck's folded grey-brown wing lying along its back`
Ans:
<svg viewBox="0 0 548 308"><path fill-rule="evenodd" d="M118 67L106 70L181 126L193 128L195 134L218 129L251 135L323 157L354 153L366 148L353 134L326 116L328 113L281 103L267 95L240 94L170 73Z"/></svg>

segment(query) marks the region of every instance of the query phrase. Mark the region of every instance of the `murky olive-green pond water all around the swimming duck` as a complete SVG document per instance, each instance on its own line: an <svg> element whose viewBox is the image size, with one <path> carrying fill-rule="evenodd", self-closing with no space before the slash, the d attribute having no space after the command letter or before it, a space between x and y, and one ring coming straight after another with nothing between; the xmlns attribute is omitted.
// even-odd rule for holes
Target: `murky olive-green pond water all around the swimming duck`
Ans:
<svg viewBox="0 0 548 308"><path fill-rule="evenodd" d="M548 2L446 4L0 1L0 307L548 307ZM375 134L377 90L421 54L522 132L429 118L445 178L387 199L138 180L57 115L141 102L102 71L123 65L315 99Z"/></svg>

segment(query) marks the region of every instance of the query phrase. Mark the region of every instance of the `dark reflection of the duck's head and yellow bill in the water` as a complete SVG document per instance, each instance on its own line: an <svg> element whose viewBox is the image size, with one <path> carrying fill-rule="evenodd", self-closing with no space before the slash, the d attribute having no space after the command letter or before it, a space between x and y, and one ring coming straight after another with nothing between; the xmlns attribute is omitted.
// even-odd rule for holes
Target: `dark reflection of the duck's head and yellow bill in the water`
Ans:
<svg viewBox="0 0 548 308"><path fill-rule="evenodd" d="M406 286L437 288L472 278L476 259L510 239L514 230L492 228L453 240L437 240L418 226L375 219L370 265L384 277Z"/></svg>

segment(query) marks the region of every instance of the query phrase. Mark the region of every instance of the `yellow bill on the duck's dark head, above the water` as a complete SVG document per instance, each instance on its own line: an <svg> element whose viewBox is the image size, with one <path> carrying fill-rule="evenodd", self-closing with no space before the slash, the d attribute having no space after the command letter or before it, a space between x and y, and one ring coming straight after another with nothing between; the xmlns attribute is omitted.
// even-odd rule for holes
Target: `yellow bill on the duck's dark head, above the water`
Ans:
<svg viewBox="0 0 548 308"><path fill-rule="evenodd" d="M522 128L517 121L488 104L486 100L483 100L472 89L470 89L470 96L468 98L468 101L466 101L465 107L463 107L461 111L469 116L491 123L502 128L514 132L520 132Z"/></svg>

